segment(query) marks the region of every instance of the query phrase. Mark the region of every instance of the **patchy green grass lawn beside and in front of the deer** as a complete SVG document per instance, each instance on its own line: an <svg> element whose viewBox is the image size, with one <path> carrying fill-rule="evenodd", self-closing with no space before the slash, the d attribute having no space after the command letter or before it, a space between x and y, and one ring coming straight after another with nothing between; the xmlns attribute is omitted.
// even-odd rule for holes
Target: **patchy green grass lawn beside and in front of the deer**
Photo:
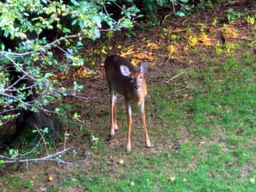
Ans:
<svg viewBox="0 0 256 192"><path fill-rule="evenodd" d="M125 152L124 106L117 114L122 128L117 140L124 146L109 147L105 141L109 109L105 108L99 119L84 125L84 130L100 138L98 148L91 150L99 155L92 156L91 164L80 165L90 173L74 167L72 177L61 175L48 191L77 186L77 191L256 191L256 184L249 181L256 178L255 70L256 58L246 52L241 58L213 60L200 70L187 70L187 84L183 77L175 83L150 84L146 109L152 150L143 148L143 131L134 124L132 152ZM102 109L100 105L87 107L92 116ZM139 116L134 113L134 119ZM124 159L124 165L116 163L118 159ZM175 177L174 182L170 177ZM8 182L13 191L33 191L21 177L4 176L1 182Z"/></svg>

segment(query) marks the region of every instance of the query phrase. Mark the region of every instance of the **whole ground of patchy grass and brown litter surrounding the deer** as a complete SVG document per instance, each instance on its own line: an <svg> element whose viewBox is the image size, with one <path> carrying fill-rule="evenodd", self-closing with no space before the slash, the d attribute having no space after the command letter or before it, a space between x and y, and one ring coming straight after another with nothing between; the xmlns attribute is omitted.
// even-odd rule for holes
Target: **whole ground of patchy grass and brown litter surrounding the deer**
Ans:
<svg viewBox="0 0 256 192"><path fill-rule="evenodd" d="M160 27L116 33L106 42L84 47L81 56L92 58L86 65L95 65L96 74L81 68L61 79L63 84L76 79L84 84L84 95L97 99L66 98L63 103L72 106L67 116L72 119L77 112L81 122L66 120L65 115L61 120L70 133L68 145L76 148L67 159L83 159L90 152L88 161L77 166L34 163L28 170L26 164L3 166L0 189L255 191L250 179L256 177L256 28L245 16L223 26L228 8L244 12L242 5L256 8L249 1L220 4L216 10L165 20ZM127 33L131 38L125 37ZM117 113L121 130L115 140L106 141L109 93L102 62L110 54L123 54L133 63L150 61L146 77L147 124L154 145L150 150L144 148L140 114L134 108L132 152L125 152L122 99ZM92 135L99 143L92 143ZM118 164L120 159L124 165Z"/></svg>

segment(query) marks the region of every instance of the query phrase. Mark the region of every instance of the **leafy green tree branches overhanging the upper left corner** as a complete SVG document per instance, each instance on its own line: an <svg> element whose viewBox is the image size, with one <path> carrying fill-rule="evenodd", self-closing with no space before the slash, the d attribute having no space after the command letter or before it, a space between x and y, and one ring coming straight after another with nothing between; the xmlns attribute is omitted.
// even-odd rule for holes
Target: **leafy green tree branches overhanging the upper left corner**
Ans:
<svg viewBox="0 0 256 192"><path fill-rule="evenodd" d="M118 20L113 19L116 10ZM136 6L115 0L0 2L0 126L19 115L19 109L44 110L80 92L83 86L76 82L68 90L53 77L83 65L76 56L83 38L95 40L103 31L130 28L138 12ZM65 59L56 57L57 52Z"/></svg>

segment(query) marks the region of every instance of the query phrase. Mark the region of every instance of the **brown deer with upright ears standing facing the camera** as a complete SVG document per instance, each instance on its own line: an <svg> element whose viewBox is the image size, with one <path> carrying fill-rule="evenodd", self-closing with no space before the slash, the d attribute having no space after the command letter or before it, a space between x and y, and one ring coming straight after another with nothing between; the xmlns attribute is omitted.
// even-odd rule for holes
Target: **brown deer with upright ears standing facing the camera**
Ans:
<svg viewBox="0 0 256 192"><path fill-rule="evenodd" d="M145 143L147 148L151 148L145 118L145 97L147 95L147 84L144 74L148 69L148 62L141 63L140 68L137 69L124 57L113 55L108 56L104 63L105 73L108 80L108 88L110 92L111 104L111 126L109 140L115 138L115 132L118 131L116 123L116 98L122 95L125 99L126 113L127 113L127 143L126 150L131 151L131 106L132 104L140 106L141 120L143 122Z"/></svg>

